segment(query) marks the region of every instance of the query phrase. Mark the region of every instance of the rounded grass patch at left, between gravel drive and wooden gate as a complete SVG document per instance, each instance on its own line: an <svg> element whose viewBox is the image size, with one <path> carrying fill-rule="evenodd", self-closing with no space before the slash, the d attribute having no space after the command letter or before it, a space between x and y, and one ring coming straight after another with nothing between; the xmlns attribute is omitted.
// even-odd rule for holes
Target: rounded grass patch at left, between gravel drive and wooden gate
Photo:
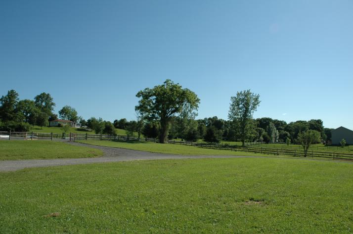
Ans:
<svg viewBox="0 0 353 234"><path fill-rule="evenodd" d="M0 160L90 158L98 149L50 140L0 140Z"/></svg>

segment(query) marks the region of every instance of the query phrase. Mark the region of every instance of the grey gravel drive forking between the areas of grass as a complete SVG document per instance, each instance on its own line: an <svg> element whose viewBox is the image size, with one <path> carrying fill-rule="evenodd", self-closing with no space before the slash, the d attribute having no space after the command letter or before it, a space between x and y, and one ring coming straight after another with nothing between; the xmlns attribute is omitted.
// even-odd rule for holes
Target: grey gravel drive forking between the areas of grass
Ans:
<svg viewBox="0 0 353 234"><path fill-rule="evenodd" d="M0 161L0 171L13 171L28 167L50 167L50 166L65 166L76 164L91 164L91 163L106 163L106 162L122 162L134 160L154 160L154 159L190 159L190 158L243 158L252 156L184 156L174 154L159 154L145 151L120 149L113 147L95 146L81 144L77 142L68 142L69 144L86 146L100 149L104 152L99 158L78 158L78 159L35 159L35 160L11 160Z"/></svg>

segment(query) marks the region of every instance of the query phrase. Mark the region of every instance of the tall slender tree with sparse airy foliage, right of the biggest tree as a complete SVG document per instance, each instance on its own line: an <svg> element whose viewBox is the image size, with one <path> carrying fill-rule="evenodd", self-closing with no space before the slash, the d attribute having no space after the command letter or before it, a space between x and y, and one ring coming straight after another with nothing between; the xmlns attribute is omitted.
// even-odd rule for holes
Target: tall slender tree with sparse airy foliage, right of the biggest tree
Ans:
<svg viewBox="0 0 353 234"><path fill-rule="evenodd" d="M238 123L244 146L245 139L254 132L253 114L260 105L260 95L252 93L249 89L237 92L236 96L231 97L230 100L228 118Z"/></svg>

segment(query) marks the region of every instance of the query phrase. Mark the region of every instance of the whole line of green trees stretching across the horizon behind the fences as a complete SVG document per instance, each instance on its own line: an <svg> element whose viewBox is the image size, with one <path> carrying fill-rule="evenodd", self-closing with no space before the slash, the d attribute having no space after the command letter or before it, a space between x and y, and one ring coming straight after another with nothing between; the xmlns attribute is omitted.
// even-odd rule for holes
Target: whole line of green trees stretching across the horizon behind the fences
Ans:
<svg viewBox="0 0 353 234"><path fill-rule="evenodd" d="M141 90L136 97L139 98L135 106L136 120L132 121L123 118L111 123L95 117L86 121L68 105L58 114L62 119L87 127L82 131L91 129L96 134L113 135L115 129L123 129L128 135L158 137L161 143L176 138L187 141L204 139L208 142L241 141L243 144L254 141L301 143L301 134L309 131L315 131L314 141L331 140L332 129L324 128L320 119L290 123L267 117L254 119L253 113L261 101L260 96L250 90L237 92L230 98L227 120L217 116L196 119L200 99L191 90L171 80ZM19 100L17 92L10 90L0 99L0 131L27 132L31 125L47 126L48 121L58 118L53 112L54 106L53 98L48 93L37 95L34 100Z"/></svg>

